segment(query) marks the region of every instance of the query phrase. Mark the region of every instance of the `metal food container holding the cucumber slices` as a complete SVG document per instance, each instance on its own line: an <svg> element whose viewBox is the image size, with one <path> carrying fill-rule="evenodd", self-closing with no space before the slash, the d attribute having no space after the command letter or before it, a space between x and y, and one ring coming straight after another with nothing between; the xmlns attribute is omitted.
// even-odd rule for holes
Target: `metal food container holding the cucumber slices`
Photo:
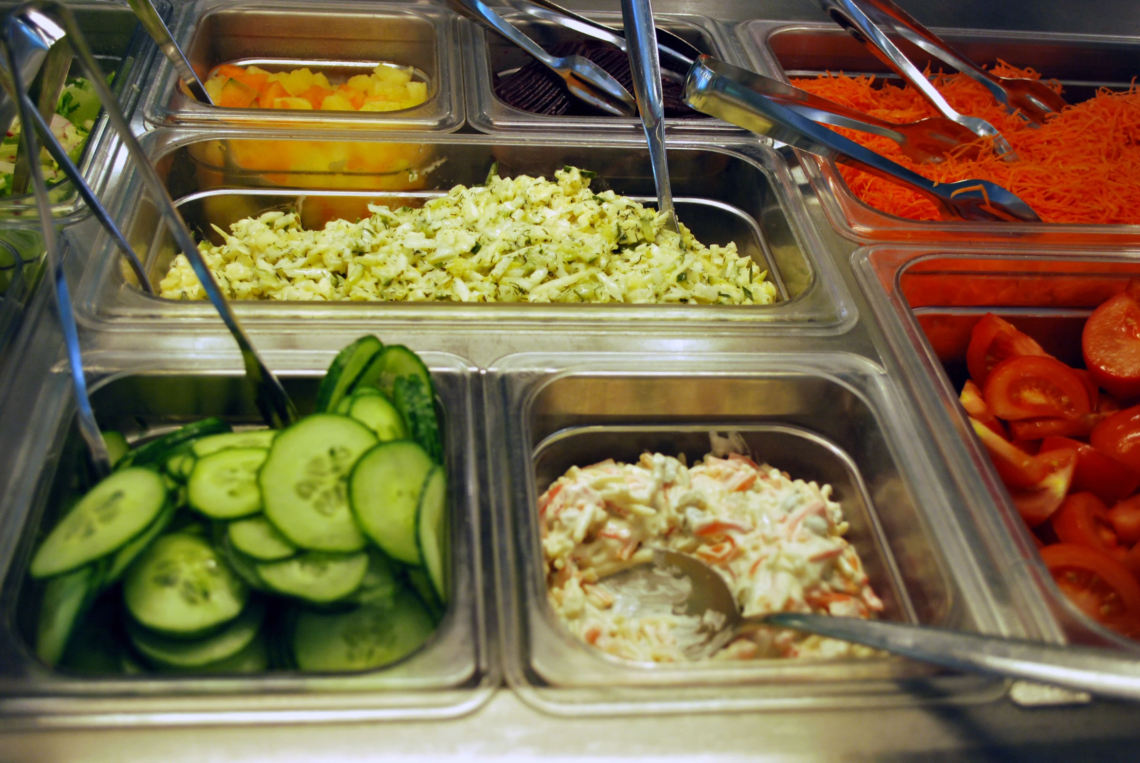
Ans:
<svg viewBox="0 0 1140 763"><path fill-rule="evenodd" d="M52 311L43 310L40 317L36 338L56 339L46 346L58 350ZM266 358L304 412L311 410L333 354L278 352ZM499 679L486 632L481 478L474 458L477 369L467 361L439 352L421 355L443 413L450 475L450 602L429 641L402 661L370 672L169 676L79 674L49 668L32 654L28 635L34 633L40 585L25 580L25 569L41 527L57 517L84 450L73 424L66 363L52 366L55 352L31 355L22 367L24 383L10 386L3 408L10 448L0 466L7 478L0 518L0 722L105 728L449 717L489 698ZM233 424L260 422L233 352L92 353L84 366L100 425L120 427L128 436L169 430L207 416L222 416ZM34 418L28 411L35 411Z"/></svg>

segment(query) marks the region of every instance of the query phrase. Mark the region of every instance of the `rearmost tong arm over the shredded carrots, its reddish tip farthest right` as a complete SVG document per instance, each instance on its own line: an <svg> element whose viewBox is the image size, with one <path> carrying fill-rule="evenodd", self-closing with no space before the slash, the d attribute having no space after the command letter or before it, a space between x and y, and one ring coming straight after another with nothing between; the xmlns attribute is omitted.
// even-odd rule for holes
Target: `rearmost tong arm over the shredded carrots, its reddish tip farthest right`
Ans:
<svg viewBox="0 0 1140 763"><path fill-rule="evenodd" d="M954 50L945 40L922 26L913 16L891 0L855 0L865 8L868 17L881 26L893 27L902 36L935 58L950 64L962 74L984 85L999 104L1034 125L1045 123L1045 117L1068 106L1052 88L1037 80L999 76L976 65Z"/></svg>

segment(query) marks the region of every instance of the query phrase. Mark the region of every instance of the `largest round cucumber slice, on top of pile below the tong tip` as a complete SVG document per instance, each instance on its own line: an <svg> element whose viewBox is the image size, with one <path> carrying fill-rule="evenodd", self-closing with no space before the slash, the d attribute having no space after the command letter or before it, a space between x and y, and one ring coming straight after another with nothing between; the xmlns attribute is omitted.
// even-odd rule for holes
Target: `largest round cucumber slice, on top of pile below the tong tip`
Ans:
<svg viewBox="0 0 1140 763"><path fill-rule="evenodd" d="M309 416L282 432L258 475L266 517L301 548L363 549L365 539L349 509L345 482L374 444L372 429L335 413Z"/></svg>

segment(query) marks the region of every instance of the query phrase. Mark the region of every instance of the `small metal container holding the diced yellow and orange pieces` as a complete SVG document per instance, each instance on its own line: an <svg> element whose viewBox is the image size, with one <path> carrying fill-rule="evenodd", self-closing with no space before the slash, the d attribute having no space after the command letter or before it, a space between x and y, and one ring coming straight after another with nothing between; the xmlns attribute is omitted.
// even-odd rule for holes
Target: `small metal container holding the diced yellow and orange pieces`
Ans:
<svg viewBox="0 0 1140 763"><path fill-rule="evenodd" d="M163 60L144 113L157 125L451 132L464 122L457 23L432 5L198 0L181 9L171 33L203 81L227 63L347 77L388 61L413 67L413 79L427 83L427 100L394 112L222 108L189 97Z"/></svg>

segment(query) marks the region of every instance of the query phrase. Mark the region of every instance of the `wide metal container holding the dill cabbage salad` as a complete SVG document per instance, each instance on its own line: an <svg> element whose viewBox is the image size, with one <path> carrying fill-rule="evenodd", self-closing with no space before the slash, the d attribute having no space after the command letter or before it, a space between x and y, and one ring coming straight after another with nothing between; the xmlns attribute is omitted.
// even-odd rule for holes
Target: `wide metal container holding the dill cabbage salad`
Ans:
<svg viewBox="0 0 1140 763"><path fill-rule="evenodd" d="M328 216L355 219L367 215L368 202L392 206L421 204L424 198L446 192L457 183L482 183L498 162L499 173L526 173L552 178L564 165L593 169L619 194L651 200L652 172L644 142L544 141L534 143L483 136L450 136L434 142L409 140L344 142L328 136L286 140L280 137L219 131L152 131L142 138L155 158L168 190L180 205L187 222L203 237L215 236L211 224L225 227L267 208L280 208L304 198L302 210L310 224ZM324 172L249 172L230 169L229 156L251 147L267 155L312 156L319 151L352 146L378 157L412 155L431 157L426 166L415 165L388 174ZM210 159L217 156L217 159ZM206 157L206 158L203 158ZM211 163L212 162L212 163ZM286 167L292 169L292 167ZM396 303L396 302L282 302L249 301L236 304L249 321L287 318L336 320L490 321L496 327L540 320L579 320L613 326L621 321L644 326L644 321L715 322L719 325L764 323L798 326L807 330L836 331L854 320L849 297L834 272L833 263L819 256L823 246L796 194L787 165L759 145L736 148L670 148L674 194L682 221L707 244L736 241L740 251L756 262L775 284L780 302L764 306L730 305L626 305L626 304L529 304L529 303ZM157 216L146 200L137 172L128 163L123 192L113 213L140 253L152 282L157 286L176 251L157 229ZM595 186L596 187L596 186ZM213 320L205 302L170 301L147 296L128 284L119 261L106 246L92 251L91 266L76 290L80 311L92 320L149 325L162 319L170 329L196 327Z"/></svg>

